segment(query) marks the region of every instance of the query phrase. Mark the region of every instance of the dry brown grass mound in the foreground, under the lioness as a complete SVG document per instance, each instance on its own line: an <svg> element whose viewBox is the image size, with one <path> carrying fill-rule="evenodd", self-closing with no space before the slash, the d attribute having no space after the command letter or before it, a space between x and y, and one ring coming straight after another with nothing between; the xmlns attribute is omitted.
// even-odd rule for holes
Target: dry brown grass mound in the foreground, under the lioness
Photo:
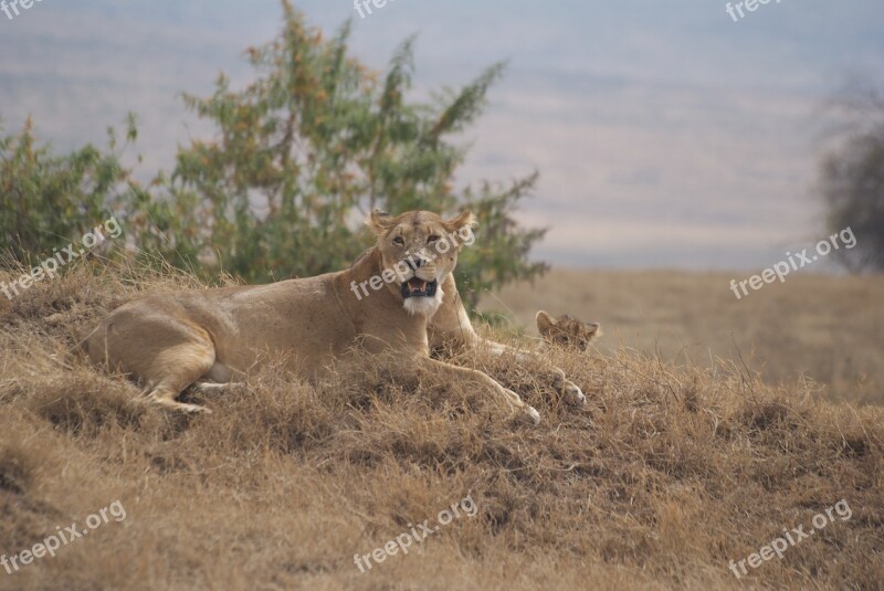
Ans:
<svg viewBox="0 0 884 591"><path fill-rule="evenodd" d="M200 399L214 414L194 419L144 407L122 377L80 360L65 367L75 336L115 302L190 283L75 271L0 298L0 553L117 499L127 514L54 558L13 576L0 569L0 589L884 580L882 409L820 401L810 381L771 387L734 366L676 368L625 349L545 353L583 388L582 411L537 384L529 365L461 360L523 393L544 414L536 429L513 424L486 392L403 376L383 359L341 367L317 387L269 363L241 391ZM466 495L474 518L360 574L354 553L432 524ZM728 570L842 498L851 519L741 580Z"/></svg>

